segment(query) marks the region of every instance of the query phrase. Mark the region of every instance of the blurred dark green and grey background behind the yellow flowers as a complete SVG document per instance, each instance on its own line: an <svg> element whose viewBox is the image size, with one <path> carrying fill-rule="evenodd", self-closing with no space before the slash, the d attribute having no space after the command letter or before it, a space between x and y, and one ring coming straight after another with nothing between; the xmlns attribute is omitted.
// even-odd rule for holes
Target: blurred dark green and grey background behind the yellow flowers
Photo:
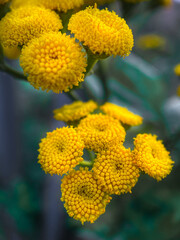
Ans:
<svg viewBox="0 0 180 240"><path fill-rule="evenodd" d="M126 146L140 132L157 134L175 161L172 173L158 183L141 176L132 194L113 197L105 214L82 226L60 201L60 177L45 175L37 163L40 139L63 126L53 120L53 109L71 99L0 72L0 240L180 239L180 78L173 70L180 63L180 1L151 3L131 11L118 1L106 5L125 17L135 47L126 59L111 57L95 67L84 83L89 95L77 91L84 101L106 99L142 115ZM5 60L21 71L18 60Z"/></svg>

